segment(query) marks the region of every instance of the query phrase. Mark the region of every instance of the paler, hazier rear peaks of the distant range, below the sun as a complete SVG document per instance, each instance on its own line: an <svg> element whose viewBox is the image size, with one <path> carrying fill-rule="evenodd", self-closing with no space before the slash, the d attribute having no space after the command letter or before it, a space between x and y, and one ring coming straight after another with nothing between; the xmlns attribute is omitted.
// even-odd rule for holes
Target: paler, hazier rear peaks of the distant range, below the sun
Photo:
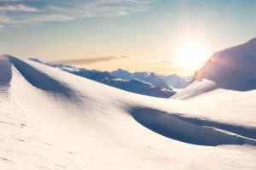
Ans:
<svg viewBox="0 0 256 170"><path fill-rule="evenodd" d="M111 74L115 77L119 77L124 80L131 80L133 78L136 78L144 82L149 82L156 87L161 86L166 89L186 88L194 78L194 77L179 77L175 74L164 76L164 75L156 74L154 72L146 72L146 71L131 73L129 71L125 71L122 69L112 71Z"/></svg>

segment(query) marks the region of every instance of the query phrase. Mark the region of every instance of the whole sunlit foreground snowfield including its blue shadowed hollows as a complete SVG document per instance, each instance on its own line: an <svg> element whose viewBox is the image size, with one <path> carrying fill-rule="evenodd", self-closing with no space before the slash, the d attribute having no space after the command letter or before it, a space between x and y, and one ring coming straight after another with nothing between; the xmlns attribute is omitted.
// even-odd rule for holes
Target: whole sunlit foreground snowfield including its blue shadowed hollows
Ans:
<svg viewBox="0 0 256 170"><path fill-rule="evenodd" d="M256 169L256 90L209 80L184 90L132 94L3 55L0 167Z"/></svg>

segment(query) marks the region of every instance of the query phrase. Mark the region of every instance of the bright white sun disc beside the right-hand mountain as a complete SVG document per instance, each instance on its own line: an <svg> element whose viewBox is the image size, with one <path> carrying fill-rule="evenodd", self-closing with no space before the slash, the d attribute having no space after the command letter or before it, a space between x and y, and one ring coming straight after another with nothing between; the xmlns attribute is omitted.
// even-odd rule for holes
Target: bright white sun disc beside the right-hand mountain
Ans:
<svg viewBox="0 0 256 170"><path fill-rule="evenodd" d="M205 64L208 57L209 53L203 43L189 40L183 42L178 49L177 65L196 70Z"/></svg>

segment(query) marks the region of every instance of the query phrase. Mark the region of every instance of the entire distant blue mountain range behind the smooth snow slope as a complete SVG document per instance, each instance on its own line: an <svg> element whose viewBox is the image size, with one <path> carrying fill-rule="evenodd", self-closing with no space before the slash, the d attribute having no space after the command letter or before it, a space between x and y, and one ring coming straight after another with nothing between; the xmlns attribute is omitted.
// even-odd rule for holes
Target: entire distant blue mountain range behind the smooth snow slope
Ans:
<svg viewBox="0 0 256 170"><path fill-rule="evenodd" d="M30 58L38 63L46 64L67 71L79 77L85 77L108 86L119 88L136 94L170 98L176 94L173 88L185 88L193 77L178 77L177 75L162 76L153 72L135 72L118 69L117 71L96 71L78 68L71 65L47 64L37 58Z"/></svg>

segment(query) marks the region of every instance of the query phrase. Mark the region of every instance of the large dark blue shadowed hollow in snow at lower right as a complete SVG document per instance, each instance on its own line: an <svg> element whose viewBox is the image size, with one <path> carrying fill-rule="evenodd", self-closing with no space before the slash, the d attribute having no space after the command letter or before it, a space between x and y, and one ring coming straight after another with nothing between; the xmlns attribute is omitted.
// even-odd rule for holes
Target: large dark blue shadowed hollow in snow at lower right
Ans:
<svg viewBox="0 0 256 170"><path fill-rule="evenodd" d="M189 144L207 146L220 144L256 145L256 128L185 117L149 108L134 108L131 110L131 116L155 133Z"/></svg>

